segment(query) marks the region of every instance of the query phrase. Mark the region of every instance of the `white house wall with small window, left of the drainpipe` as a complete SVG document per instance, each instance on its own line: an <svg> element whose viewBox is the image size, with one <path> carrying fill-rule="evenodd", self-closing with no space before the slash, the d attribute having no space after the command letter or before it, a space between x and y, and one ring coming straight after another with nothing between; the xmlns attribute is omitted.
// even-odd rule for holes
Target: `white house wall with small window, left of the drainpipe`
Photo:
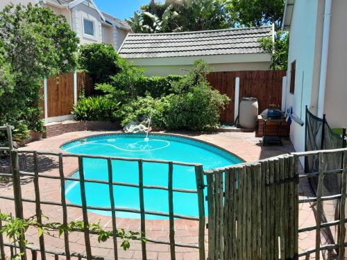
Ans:
<svg viewBox="0 0 347 260"><path fill-rule="evenodd" d="M287 107L305 121L305 105L310 107L314 80L316 22L319 0L296 1L291 19L287 71ZM307 10L310 10L308 12ZM289 93L291 62L296 60L295 92ZM291 141L297 151L305 150L305 125L291 123Z"/></svg>

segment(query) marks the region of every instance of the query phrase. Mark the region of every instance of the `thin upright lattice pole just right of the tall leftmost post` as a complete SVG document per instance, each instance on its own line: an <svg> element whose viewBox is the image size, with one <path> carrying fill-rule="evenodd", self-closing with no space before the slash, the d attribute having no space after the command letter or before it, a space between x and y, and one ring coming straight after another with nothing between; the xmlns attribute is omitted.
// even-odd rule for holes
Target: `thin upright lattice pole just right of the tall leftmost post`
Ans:
<svg viewBox="0 0 347 260"><path fill-rule="evenodd" d="M33 153L33 162L34 162L34 189L35 189L35 211L36 211L36 218L37 218L37 223L42 225L42 211L41 211L41 205L40 205L40 185L39 185L39 162L37 158L37 152L35 151ZM39 238L40 242L40 252L41 252L41 259L45 260L46 259L46 254L44 250L44 234L42 234Z"/></svg>

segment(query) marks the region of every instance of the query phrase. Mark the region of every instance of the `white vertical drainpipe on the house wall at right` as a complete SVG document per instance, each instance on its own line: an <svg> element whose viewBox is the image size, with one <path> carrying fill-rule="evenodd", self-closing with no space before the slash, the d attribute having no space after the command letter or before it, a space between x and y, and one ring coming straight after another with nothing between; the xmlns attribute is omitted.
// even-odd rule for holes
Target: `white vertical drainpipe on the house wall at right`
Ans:
<svg viewBox="0 0 347 260"><path fill-rule="evenodd" d="M318 96L318 109L317 109L317 116L320 118L323 117L323 112L324 112L326 74L328 69L331 6L332 6L332 0L325 0L322 57L321 57L321 76L319 78L319 94L318 94L319 96Z"/></svg>

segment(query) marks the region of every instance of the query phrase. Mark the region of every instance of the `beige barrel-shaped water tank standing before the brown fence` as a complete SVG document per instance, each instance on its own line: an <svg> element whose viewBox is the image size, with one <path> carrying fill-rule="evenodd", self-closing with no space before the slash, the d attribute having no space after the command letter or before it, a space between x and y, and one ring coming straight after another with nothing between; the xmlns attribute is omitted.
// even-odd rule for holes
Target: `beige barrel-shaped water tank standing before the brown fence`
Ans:
<svg viewBox="0 0 347 260"><path fill-rule="evenodd" d="M239 124L242 128L256 128L258 115L257 98L242 98L239 105Z"/></svg>

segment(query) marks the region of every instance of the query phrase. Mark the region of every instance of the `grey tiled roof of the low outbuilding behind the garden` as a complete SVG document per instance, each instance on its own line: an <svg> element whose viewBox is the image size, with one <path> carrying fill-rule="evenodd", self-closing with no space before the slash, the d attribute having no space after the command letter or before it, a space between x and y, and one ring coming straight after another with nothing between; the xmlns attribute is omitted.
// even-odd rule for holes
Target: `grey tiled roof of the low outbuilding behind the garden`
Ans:
<svg viewBox="0 0 347 260"><path fill-rule="evenodd" d="M272 26L186 33L130 33L119 54L123 58L162 58L264 53L258 40L272 34Z"/></svg>

